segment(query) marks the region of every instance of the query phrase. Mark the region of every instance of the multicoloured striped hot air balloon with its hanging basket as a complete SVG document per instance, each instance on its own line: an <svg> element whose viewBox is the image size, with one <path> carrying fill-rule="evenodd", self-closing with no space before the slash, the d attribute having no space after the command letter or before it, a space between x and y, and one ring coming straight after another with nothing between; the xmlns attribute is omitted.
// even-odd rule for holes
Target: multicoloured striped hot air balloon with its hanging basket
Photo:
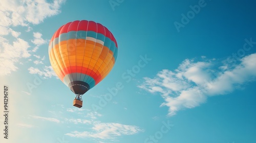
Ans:
<svg viewBox="0 0 256 143"><path fill-rule="evenodd" d="M110 73L117 48L113 34L94 21L68 22L54 33L50 62L59 79L75 93L74 106L81 108L82 95Z"/></svg>

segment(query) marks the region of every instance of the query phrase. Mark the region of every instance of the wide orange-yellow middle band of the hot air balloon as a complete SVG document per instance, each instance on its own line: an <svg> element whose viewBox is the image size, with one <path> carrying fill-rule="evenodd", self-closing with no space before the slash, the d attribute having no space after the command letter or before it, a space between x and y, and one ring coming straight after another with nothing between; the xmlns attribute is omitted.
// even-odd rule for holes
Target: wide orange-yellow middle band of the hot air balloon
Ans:
<svg viewBox="0 0 256 143"><path fill-rule="evenodd" d="M74 43L79 45L75 46ZM70 66L82 66L88 67L95 73L100 73L102 80L115 63L113 52L108 47L85 39L61 41L59 44L54 45L50 53L54 54L53 57L56 57L55 60L59 65L59 74L57 75L60 75L61 71L64 73L63 75L66 75L66 71L63 70ZM63 80L63 77L61 80Z"/></svg>

